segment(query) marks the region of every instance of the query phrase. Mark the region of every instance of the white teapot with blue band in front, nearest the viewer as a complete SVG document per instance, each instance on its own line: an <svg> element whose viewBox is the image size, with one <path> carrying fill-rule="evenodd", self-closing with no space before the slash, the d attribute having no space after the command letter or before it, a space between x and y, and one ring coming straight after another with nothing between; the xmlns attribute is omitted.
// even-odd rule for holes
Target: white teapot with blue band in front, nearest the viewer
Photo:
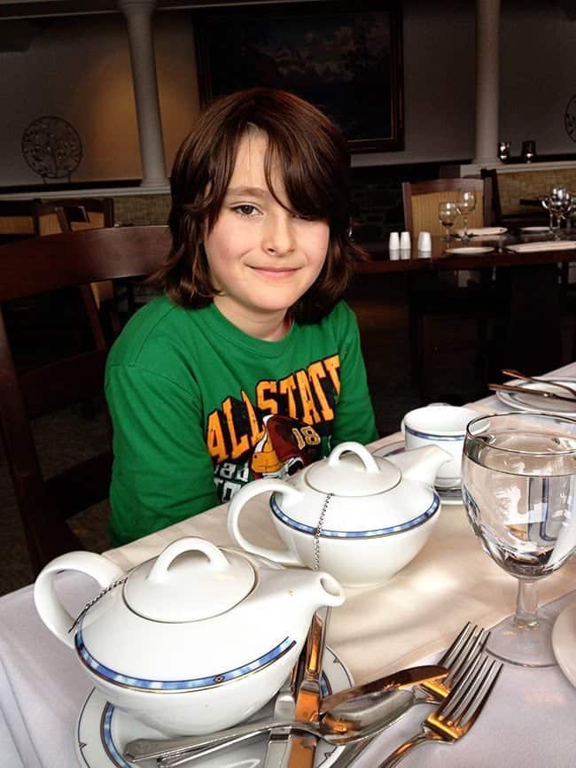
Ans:
<svg viewBox="0 0 576 768"><path fill-rule="evenodd" d="M61 570L103 588L76 622L54 590ZM315 609L341 605L344 593L327 573L187 537L128 574L102 555L61 555L39 574L34 598L108 702L185 735L235 725L268 702L296 663Z"/></svg>

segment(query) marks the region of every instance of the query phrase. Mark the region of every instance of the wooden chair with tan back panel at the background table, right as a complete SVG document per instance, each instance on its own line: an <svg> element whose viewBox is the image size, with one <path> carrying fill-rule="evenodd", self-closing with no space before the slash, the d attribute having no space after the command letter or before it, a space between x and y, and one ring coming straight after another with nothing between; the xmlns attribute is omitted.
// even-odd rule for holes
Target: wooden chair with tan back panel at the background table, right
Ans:
<svg viewBox="0 0 576 768"><path fill-rule="evenodd" d="M438 218L438 204L456 200L463 190L476 192L476 207L468 226L484 227L493 222L492 182L490 179L432 179L403 182L404 221L406 229L416 234L422 229L432 236L444 234ZM492 275L481 271L413 275L409 295L410 357L412 379L419 384L423 402L437 396L434 392L434 368L442 355L471 351L474 347L475 369L486 376L488 324L492 317L494 287ZM458 347L448 335L449 323L471 324L472 344L463 339ZM446 392L440 395L446 396Z"/></svg>

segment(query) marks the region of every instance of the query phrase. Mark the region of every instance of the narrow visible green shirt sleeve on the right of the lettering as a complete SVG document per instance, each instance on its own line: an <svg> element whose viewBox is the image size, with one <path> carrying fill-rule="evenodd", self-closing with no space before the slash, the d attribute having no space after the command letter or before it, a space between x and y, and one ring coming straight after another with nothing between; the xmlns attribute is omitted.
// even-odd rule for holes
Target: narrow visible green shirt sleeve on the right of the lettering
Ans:
<svg viewBox="0 0 576 768"><path fill-rule="evenodd" d="M332 447L346 440L366 445L378 438L378 432L362 357L360 330L354 312L345 302L341 302L336 311L339 313L340 394Z"/></svg>

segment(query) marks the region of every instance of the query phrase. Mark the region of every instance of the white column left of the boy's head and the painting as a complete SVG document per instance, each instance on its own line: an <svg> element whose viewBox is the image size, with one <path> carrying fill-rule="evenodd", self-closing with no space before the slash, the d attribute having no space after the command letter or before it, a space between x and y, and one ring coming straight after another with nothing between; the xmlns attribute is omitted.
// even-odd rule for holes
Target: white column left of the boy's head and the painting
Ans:
<svg viewBox="0 0 576 768"><path fill-rule="evenodd" d="M152 12L155 0L119 0L128 22L132 80L136 98L136 119L142 159L142 186L166 189L164 140L152 40Z"/></svg>

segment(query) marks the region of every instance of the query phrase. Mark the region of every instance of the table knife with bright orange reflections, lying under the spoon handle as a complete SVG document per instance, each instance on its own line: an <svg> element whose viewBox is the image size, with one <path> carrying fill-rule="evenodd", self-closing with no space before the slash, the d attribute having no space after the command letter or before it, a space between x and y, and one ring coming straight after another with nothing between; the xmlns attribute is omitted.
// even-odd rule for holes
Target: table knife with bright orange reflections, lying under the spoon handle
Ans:
<svg viewBox="0 0 576 768"><path fill-rule="evenodd" d="M322 702L322 663L326 628L331 609L323 607L312 617L306 641L304 674L296 695L296 719L318 722ZM313 768L316 744L315 736L304 733L292 734L292 750L288 768Z"/></svg>

